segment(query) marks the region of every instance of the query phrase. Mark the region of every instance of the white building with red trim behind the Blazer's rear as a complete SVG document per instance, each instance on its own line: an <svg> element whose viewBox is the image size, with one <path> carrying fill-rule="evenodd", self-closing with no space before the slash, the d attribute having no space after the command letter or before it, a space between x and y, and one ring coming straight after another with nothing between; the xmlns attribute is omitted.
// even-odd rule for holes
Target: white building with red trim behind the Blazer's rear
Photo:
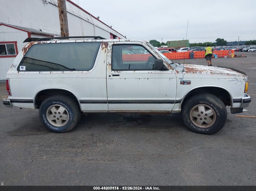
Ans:
<svg viewBox="0 0 256 191"><path fill-rule="evenodd" d="M28 37L60 36L57 0L0 0L0 80ZM125 38L71 0L66 0L69 36Z"/></svg>

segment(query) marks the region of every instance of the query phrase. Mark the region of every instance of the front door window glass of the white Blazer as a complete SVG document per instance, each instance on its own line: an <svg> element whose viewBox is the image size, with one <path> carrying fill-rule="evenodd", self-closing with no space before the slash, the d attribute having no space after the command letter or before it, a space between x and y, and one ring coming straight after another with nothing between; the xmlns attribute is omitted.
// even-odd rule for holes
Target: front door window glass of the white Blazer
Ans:
<svg viewBox="0 0 256 191"><path fill-rule="evenodd" d="M124 51L135 54L122 54ZM112 70L152 70L156 58L140 45L113 45Z"/></svg>

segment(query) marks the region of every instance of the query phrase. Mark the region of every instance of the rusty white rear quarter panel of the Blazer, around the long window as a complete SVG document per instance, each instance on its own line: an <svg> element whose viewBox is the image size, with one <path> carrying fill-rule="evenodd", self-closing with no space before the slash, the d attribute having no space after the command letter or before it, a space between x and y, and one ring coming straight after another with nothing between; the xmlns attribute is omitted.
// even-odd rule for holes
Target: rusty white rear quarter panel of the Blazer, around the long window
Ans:
<svg viewBox="0 0 256 191"><path fill-rule="evenodd" d="M28 43L30 46L31 43ZM78 101L107 99L106 91L106 63L108 43L101 43L95 64L90 71L52 71L52 72L23 72L17 71L18 65L27 50L22 49L13 61L7 78L10 79L12 96L9 99L28 99L34 103L12 103L14 107L35 109L35 97L39 91L45 89L68 90L77 97ZM80 104L80 103L79 103ZM85 104L83 104L85 105ZM92 107L93 108L88 108ZM86 110L107 110L107 105L90 104ZM85 110L80 104L81 110Z"/></svg>

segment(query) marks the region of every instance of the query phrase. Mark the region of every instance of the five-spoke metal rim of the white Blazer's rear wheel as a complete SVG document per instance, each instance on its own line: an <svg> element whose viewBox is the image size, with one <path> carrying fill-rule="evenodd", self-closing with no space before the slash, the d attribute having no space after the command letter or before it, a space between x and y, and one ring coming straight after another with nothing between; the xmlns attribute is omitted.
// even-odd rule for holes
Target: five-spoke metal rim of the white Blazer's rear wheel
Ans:
<svg viewBox="0 0 256 191"><path fill-rule="evenodd" d="M53 126L62 127L68 123L68 110L62 105L55 104L48 107L46 117Z"/></svg>

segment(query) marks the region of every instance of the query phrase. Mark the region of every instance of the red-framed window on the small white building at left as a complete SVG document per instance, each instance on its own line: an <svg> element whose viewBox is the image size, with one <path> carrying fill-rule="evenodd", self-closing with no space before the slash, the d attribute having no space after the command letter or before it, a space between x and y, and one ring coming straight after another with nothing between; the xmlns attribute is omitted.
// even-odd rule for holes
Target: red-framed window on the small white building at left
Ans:
<svg viewBox="0 0 256 191"><path fill-rule="evenodd" d="M0 58L16 57L17 53L17 41L0 42Z"/></svg>

